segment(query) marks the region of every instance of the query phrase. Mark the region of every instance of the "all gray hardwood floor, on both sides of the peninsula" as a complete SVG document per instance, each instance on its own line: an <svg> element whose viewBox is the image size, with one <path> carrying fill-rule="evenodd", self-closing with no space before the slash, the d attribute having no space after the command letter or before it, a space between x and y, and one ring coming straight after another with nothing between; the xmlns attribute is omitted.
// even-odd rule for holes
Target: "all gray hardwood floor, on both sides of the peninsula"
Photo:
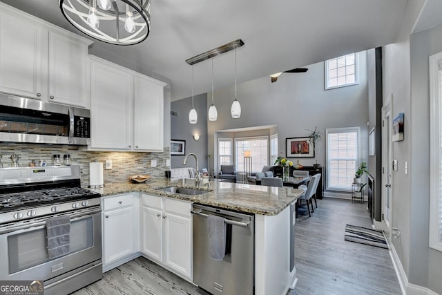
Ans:
<svg viewBox="0 0 442 295"><path fill-rule="evenodd" d="M346 224L371 227L366 207L366 202L325 198L318 200L311 218L299 217L295 230L298 284L287 295L401 294L387 249L344 240ZM207 293L140 257L74 294Z"/></svg>

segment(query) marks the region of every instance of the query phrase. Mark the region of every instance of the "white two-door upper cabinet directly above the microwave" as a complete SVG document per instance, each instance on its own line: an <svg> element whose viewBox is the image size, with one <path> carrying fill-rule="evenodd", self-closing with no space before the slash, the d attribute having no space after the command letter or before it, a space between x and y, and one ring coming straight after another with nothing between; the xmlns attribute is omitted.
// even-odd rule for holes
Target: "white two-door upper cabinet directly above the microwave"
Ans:
<svg viewBox="0 0 442 295"><path fill-rule="evenodd" d="M0 3L0 92L89 108L92 43Z"/></svg>

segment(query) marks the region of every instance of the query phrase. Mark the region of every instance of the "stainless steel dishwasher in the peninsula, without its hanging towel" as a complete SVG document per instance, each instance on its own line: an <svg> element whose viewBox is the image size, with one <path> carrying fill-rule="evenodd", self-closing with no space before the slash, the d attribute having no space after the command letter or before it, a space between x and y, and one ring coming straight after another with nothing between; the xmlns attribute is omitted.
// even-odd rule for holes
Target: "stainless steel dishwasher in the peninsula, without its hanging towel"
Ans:
<svg viewBox="0 0 442 295"><path fill-rule="evenodd" d="M212 294L254 293L254 216L193 204L193 283ZM225 218L226 255L209 257L207 216Z"/></svg>

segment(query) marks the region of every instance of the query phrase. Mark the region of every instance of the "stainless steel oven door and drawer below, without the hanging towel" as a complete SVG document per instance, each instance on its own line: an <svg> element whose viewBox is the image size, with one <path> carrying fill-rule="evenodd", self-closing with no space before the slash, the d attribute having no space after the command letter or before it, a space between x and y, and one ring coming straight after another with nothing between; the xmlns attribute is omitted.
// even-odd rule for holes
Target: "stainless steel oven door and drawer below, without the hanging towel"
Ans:
<svg viewBox="0 0 442 295"><path fill-rule="evenodd" d="M57 214L70 216L70 254L50 260L45 216L0 227L0 280L49 280L102 258L101 207ZM3 250L5 249L5 250Z"/></svg>

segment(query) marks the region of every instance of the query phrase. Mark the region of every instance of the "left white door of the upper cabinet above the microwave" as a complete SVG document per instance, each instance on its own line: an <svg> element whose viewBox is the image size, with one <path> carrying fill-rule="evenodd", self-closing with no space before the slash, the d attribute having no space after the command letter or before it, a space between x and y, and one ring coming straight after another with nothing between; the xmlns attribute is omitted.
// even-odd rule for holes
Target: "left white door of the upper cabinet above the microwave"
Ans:
<svg viewBox="0 0 442 295"><path fill-rule="evenodd" d="M0 13L0 92L47 97L48 31Z"/></svg>

